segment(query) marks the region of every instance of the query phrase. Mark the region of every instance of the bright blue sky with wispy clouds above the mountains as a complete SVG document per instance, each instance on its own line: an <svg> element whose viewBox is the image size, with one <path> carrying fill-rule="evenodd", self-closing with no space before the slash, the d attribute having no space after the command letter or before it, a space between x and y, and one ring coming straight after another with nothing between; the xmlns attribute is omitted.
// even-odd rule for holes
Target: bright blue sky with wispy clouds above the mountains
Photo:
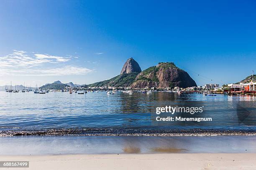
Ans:
<svg viewBox="0 0 256 170"><path fill-rule="evenodd" d="M0 85L90 84L174 62L197 85L256 70L256 2L2 0Z"/></svg>

